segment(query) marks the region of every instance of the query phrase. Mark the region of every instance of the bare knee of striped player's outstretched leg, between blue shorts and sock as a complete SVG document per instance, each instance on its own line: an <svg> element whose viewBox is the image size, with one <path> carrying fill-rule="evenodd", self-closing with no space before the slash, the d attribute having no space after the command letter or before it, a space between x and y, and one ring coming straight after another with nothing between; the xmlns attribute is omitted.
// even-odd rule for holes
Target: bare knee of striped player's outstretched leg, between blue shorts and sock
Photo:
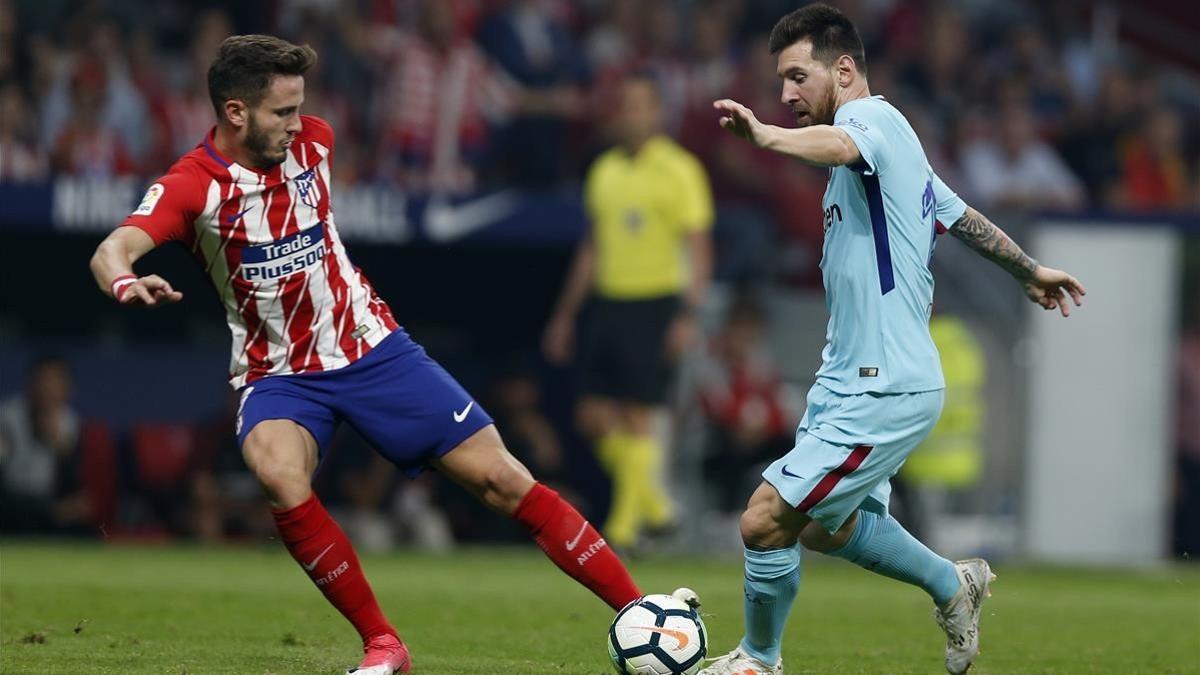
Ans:
<svg viewBox="0 0 1200 675"><path fill-rule="evenodd" d="M485 426L431 464L488 507L505 514L516 510L534 479L509 453L494 425Z"/></svg>

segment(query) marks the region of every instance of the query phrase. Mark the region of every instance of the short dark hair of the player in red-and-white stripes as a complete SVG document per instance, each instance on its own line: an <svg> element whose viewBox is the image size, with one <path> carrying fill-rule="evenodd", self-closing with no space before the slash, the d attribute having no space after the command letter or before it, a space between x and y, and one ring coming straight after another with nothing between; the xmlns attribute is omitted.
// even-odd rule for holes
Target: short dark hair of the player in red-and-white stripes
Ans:
<svg viewBox="0 0 1200 675"><path fill-rule="evenodd" d="M277 74L304 74L317 62L307 44L292 44L272 35L234 35L217 49L209 66L209 98L220 120L224 102L236 98L254 107L266 96Z"/></svg>

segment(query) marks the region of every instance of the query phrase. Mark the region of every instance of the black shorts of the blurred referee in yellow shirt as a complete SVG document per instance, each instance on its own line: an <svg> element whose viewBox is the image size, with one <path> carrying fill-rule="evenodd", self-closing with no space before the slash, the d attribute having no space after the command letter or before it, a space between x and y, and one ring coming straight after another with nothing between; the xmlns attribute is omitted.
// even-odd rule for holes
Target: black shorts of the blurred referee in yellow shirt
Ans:
<svg viewBox="0 0 1200 675"><path fill-rule="evenodd" d="M583 394L661 405L674 378L666 335L679 297L610 300L593 297L580 331Z"/></svg>

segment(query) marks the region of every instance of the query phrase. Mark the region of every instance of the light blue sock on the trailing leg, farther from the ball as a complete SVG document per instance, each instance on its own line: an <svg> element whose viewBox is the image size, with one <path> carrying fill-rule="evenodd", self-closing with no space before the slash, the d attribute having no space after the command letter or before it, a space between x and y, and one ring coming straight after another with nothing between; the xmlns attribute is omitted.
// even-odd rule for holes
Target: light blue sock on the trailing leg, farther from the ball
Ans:
<svg viewBox="0 0 1200 675"><path fill-rule="evenodd" d="M954 563L926 549L890 515L858 509L854 533L845 546L829 551L829 555L876 574L920 586L938 605L949 602L959 590ZM750 569L749 558L746 569Z"/></svg>

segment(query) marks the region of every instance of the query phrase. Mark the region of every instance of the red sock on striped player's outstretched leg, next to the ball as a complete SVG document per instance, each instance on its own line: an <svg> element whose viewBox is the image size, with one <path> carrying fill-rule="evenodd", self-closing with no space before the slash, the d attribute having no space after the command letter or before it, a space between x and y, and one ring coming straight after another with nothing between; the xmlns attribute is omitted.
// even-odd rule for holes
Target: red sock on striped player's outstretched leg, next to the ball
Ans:
<svg viewBox="0 0 1200 675"><path fill-rule="evenodd" d="M642 592L607 542L558 492L535 483L512 513L554 565L589 591L620 609Z"/></svg>

